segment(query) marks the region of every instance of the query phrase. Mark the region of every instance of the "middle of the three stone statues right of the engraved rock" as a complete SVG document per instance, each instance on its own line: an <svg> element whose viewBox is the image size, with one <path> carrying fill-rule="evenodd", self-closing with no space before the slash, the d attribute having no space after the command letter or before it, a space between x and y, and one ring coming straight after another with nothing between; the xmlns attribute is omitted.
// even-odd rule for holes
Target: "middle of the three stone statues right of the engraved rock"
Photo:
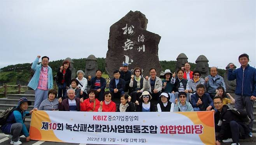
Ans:
<svg viewBox="0 0 256 145"><path fill-rule="evenodd" d="M201 78L203 79L205 79L205 77L210 74L208 62L209 60L204 55L200 55L196 59L196 68L194 69L194 71L200 71Z"/></svg>

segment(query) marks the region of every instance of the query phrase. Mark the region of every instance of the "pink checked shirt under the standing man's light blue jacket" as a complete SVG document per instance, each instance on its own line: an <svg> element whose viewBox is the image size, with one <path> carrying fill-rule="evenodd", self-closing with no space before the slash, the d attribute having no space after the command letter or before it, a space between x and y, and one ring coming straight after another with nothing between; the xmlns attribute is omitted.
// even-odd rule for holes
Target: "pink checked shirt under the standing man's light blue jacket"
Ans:
<svg viewBox="0 0 256 145"><path fill-rule="evenodd" d="M37 89L48 90L48 68L42 67L39 77Z"/></svg>

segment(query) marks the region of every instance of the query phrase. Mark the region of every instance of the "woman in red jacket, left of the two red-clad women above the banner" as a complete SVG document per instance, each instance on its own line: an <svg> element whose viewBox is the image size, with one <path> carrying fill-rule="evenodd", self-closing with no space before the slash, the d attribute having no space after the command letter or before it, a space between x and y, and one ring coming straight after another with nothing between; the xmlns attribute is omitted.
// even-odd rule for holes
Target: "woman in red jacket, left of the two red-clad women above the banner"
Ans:
<svg viewBox="0 0 256 145"><path fill-rule="evenodd" d="M97 95L97 91L91 89L89 91L89 98L84 100L84 98L80 99L80 108L81 111L89 111L89 112L98 112L100 107L100 101L95 98Z"/></svg>

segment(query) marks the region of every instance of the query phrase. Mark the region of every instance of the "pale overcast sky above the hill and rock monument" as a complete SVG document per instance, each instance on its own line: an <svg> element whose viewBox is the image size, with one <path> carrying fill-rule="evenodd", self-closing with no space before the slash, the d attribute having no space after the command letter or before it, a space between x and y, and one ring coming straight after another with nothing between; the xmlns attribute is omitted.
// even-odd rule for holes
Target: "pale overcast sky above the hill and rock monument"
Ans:
<svg viewBox="0 0 256 145"><path fill-rule="evenodd" d="M160 60L183 52L192 63L203 54L209 66L239 67L247 53L256 66L255 0L0 0L0 68L37 55L105 58L110 26L130 10L161 36Z"/></svg>

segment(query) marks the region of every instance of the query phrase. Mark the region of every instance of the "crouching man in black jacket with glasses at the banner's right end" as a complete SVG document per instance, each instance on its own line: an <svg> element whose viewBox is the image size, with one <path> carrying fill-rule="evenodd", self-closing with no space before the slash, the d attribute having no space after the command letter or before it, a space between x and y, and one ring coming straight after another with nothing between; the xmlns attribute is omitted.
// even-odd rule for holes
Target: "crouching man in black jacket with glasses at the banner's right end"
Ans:
<svg viewBox="0 0 256 145"><path fill-rule="evenodd" d="M239 145L239 138L244 139L249 136L249 128L242 120L247 117L247 114L223 105L222 98L219 96L214 97L213 102L218 110L215 115L219 115L220 118L218 126L221 126L216 145L221 145L221 140L226 138L232 138L231 145Z"/></svg>

